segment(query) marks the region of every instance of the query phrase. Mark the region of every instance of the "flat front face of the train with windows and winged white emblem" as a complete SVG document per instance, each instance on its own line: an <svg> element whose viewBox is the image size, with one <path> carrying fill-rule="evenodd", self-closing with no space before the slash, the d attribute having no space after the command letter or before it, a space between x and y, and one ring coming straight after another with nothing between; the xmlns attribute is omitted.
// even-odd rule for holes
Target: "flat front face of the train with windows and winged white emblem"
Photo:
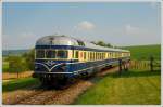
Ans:
<svg viewBox="0 0 163 107"><path fill-rule="evenodd" d="M63 79L68 77L68 50L36 49L34 78Z"/></svg>

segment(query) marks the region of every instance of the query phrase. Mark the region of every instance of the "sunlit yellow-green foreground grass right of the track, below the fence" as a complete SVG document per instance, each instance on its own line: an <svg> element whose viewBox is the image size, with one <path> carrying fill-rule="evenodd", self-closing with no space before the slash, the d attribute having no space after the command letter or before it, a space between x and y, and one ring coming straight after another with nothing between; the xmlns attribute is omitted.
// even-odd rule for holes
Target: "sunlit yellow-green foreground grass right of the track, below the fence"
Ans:
<svg viewBox="0 0 163 107"><path fill-rule="evenodd" d="M161 71L128 71L96 79L96 84L80 95L78 105L143 105L161 103Z"/></svg>

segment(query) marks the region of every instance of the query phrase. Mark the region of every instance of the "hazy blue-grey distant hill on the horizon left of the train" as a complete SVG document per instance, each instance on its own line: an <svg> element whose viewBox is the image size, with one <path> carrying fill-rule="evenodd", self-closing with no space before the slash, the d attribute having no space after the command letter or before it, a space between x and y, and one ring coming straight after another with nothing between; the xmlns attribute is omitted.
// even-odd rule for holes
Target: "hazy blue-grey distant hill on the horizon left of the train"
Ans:
<svg viewBox="0 0 163 107"><path fill-rule="evenodd" d="M26 52L28 52L29 50L3 50L2 51L2 56L8 56L10 55L22 55Z"/></svg>

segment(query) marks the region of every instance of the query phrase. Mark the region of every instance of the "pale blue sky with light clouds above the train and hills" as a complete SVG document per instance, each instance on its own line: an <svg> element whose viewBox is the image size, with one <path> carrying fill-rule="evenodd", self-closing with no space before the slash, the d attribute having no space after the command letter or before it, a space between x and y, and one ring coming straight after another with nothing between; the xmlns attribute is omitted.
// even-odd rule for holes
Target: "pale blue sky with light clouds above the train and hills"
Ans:
<svg viewBox="0 0 163 107"><path fill-rule="evenodd" d="M49 35L116 46L161 43L160 2L3 2L2 49L30 49Z"/></svg>

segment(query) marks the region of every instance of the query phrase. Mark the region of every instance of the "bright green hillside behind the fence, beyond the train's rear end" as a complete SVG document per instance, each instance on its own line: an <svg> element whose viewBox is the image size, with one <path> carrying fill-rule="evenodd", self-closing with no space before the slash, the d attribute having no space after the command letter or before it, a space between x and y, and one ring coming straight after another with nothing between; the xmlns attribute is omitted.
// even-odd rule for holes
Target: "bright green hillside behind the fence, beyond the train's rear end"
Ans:
<svg viewBox="0 0 163 107"><path fill-rule="evenodd" d="M134 59L149 59L150 56L161 59L161 44L125 46L122 49L129 50Z"/></svg>

